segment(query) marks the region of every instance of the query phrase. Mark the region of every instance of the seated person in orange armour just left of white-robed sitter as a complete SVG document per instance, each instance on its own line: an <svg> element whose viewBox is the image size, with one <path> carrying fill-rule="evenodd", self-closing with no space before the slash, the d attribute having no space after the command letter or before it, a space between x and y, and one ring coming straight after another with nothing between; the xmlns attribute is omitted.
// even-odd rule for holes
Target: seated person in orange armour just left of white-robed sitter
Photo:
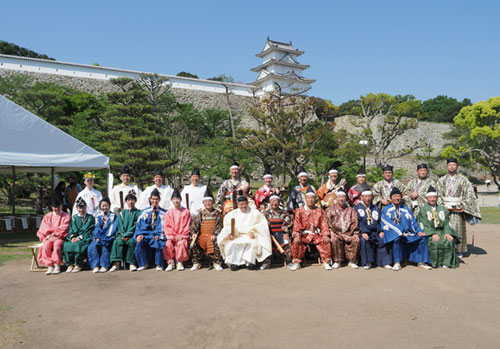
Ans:
<svg viewBox="0 0 500 349"><path fill-rule="evenodd" d="M209 269L215 268L222 271L222 256L217 245L217 236L222 230L222 211L214 207L214 197L207 188L203 197L203 206L191 221L191 259L193 267L191 270L201 268L203 256L209 259Z"/></svg>

